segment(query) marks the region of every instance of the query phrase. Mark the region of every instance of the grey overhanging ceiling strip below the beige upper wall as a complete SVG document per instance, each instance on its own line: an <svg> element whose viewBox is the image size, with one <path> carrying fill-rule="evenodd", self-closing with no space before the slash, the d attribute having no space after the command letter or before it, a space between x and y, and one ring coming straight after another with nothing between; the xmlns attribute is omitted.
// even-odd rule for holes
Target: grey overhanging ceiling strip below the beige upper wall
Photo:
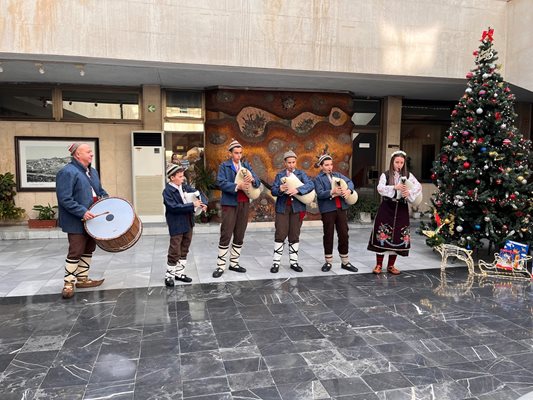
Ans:
<svg viewBox="0 0 533 400"><path fill-rule="evenodd" d="M456 101L466 79L338 72L276 70L128 60L95 60L42 56L20 59L0 53L2 83L74 85L161 85L183 89L229 86L241 88L350 91L357 97L403 96L408 99ZM38 72L41 63L45 73ZM83 67L84 76L80 76ZM533 92L512 86L517 101L533 102Z"/></svg>

